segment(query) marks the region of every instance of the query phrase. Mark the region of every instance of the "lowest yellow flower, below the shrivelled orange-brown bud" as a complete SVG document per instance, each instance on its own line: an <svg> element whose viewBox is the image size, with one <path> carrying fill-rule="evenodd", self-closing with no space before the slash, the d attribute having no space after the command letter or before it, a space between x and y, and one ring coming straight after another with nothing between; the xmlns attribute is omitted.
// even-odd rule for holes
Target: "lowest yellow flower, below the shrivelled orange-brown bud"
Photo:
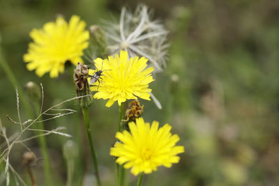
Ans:
<svg viewBox="0 0 279 186"><path fill-rule="evenodd" d="M177 134L172 135L169 131L171 126L165 124L158 129L159 123L153 121L144 123L143 118L137 118L136 124L129 123L130 133L126 130L116 133L116 138L121 143L116 143L110 148L110 155L118 157L116 162L124 164L125 169L131 169L131 173L151 173L158 166L171 167L179 162L179 153L184 152L183 146L175 146L179 141Z"/></svg>

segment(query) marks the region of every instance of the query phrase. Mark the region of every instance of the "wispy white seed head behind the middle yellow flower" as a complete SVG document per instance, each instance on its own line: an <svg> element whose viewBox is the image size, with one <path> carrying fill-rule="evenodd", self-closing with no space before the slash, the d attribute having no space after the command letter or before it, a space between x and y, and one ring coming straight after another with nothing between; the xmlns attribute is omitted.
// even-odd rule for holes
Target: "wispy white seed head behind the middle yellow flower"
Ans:
<svg viewBox="0 0 279 186"><path fill-rule="evenodd" d="M161 72L167 60L167 31L158 20L152 20L147 6L137 6L134 13L122 8L119 22L105 22L107 52L118 54L125 49L130 57L144 56L154 72Z"/></svg>

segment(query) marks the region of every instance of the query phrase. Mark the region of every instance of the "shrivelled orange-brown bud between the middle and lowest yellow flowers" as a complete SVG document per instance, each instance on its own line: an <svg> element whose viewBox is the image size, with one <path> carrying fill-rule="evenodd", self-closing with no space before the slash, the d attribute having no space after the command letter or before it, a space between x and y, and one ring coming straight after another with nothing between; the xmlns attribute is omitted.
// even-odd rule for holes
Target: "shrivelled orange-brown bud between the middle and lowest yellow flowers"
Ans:
<svg viewBox="0 0 279 186"><path fill-rule="evenodd" d="M133 100L129 102L129 107L126 110L125 117L126 119L123 121L135 121L135 118L138 118L142 115L144 111L144 106L140 106L139 100Z"/></svg>

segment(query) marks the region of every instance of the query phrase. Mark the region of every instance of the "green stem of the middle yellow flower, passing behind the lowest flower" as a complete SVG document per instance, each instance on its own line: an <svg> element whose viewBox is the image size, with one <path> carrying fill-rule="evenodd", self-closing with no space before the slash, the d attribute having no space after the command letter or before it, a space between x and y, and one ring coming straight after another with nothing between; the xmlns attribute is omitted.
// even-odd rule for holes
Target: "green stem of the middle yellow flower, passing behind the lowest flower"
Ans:
<svg viewBox="0 0 279 186"><path fill-rule="evenodd" d="M117 132L121 132L122 130L122 119L123 119L123 108L124 104L122 103L119 106L119 117L118 117L118 123L117 123ZM123 166L116 164L116 171L117 171L117 185L118 186L123 186L124 185L124 180L125 180L125 169Z"/></svg>

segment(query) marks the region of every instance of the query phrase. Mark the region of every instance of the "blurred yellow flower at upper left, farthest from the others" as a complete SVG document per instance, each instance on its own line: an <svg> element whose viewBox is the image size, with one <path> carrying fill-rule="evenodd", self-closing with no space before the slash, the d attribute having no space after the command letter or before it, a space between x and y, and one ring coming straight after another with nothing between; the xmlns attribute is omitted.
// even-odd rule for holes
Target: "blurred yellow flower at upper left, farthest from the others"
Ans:
<svg viewBox="0 0 279 186"><path fill-rule="evenodd" d="M39 77L46 72L50 72L50 77L58 77L66 61L74 65L83 63L82 51L89 45L89 31L84 31L85 26L80 17L73 15L69 23L58 17L56 22L47 22L43 29L33 29L30 33L33 42L23 56L27 69L36 69Z"/></svg>

